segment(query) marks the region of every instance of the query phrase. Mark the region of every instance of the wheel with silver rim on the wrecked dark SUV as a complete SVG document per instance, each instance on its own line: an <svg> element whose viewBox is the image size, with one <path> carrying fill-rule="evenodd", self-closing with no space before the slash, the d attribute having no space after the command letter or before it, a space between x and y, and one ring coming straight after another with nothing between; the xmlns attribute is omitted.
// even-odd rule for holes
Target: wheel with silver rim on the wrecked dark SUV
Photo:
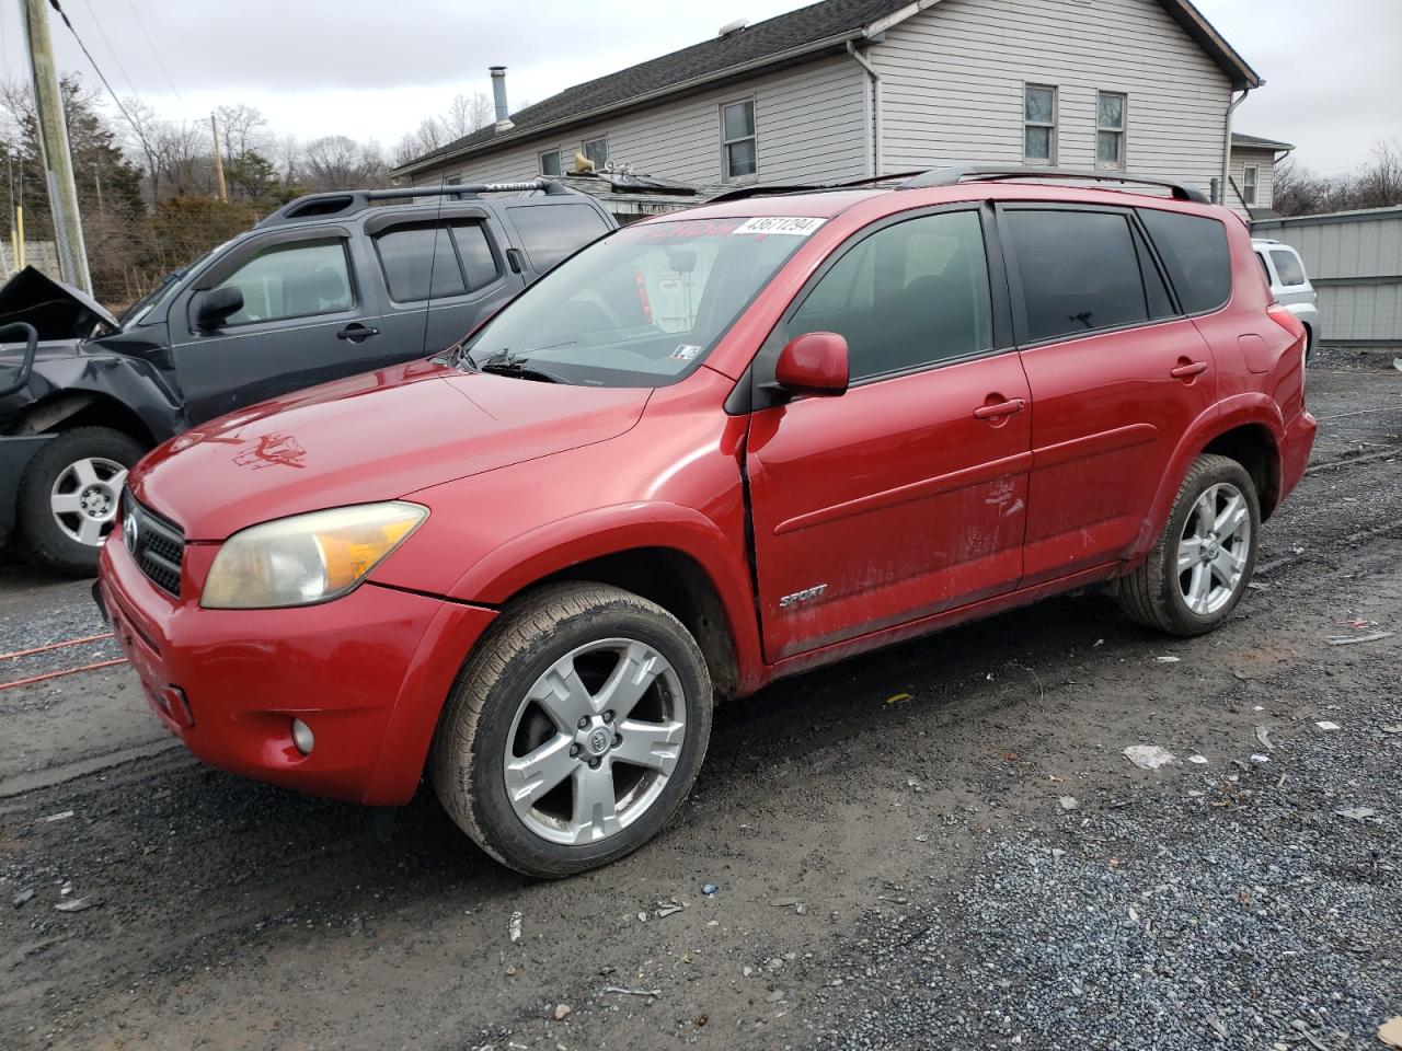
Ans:
<svg viewBox="0 0 1402 1051"><path fill-rule="evenodd" d="M69 576L97 573L126 472L144 453L111 427L74 427L45 441L20 479L15 509L31 559Z"/></svg>

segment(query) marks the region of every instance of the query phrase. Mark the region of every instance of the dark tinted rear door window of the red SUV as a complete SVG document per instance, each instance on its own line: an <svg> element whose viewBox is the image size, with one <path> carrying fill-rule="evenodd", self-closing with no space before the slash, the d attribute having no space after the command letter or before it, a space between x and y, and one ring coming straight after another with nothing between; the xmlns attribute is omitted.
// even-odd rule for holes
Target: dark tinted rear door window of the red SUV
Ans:
<svg viewBox="0 0 1402 1051"><path fill-rule="evenodd" d="M1030 342L1148 320L1124 216L1018 209L1007 224Z"/></svg>

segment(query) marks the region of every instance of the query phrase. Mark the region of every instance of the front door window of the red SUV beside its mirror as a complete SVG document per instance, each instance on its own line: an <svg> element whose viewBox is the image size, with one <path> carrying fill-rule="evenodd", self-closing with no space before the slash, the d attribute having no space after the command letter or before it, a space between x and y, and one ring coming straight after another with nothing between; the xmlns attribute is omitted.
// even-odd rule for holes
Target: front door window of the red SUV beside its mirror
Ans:
<svg viewBox="0 0 1402 1051"><path fill-rule="evenodd" d="M794 315L788 336L802 332L841 334L854 381L991 349L979 214L921 216L859 241Z"/></svg>

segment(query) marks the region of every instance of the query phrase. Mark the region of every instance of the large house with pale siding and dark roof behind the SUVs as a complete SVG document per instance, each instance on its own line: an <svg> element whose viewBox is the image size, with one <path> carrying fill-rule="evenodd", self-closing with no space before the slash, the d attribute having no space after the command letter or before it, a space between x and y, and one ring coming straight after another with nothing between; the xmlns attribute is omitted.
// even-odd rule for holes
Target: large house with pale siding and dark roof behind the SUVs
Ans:
<svg viewBox="0 0 1402 1051"><path fill-rule="evenodd" d="M1225 185L1260 77L1187 0L823 0L561 91L395 175L558 175L578 153L694 184L986 163ZM1228 199L1228 203L1239 203Z"/></svg>

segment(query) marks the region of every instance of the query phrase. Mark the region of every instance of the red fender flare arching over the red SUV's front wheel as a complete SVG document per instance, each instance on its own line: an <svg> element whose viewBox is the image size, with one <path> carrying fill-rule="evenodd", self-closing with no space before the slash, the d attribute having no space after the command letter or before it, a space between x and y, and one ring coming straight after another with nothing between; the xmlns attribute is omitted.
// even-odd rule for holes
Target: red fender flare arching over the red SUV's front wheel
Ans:
<svg viewBox="0 0 1402 1051"><path fill-rule="evenodd" d="M700 511L666 502L599 507L513 537L485 552L458 577L450 598L501 605L531 584L606 555L659 548L690 558L707 575L725 610L739 687L765 680L749 556Z"/></svg>

